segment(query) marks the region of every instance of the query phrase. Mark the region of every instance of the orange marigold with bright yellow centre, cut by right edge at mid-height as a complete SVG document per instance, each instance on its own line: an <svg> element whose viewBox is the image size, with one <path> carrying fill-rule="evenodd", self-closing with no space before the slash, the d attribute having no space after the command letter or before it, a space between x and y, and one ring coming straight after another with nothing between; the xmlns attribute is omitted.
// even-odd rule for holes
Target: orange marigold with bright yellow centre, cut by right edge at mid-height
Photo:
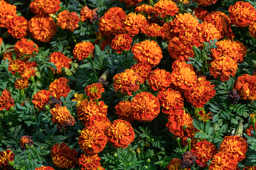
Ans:
<svg viewBox="0 0 256 170"><path fill-rule="evenodd" d="M244 74L234 82L233 90L236 89L240 99L253 101L256 99L256 75Z"/></svg>

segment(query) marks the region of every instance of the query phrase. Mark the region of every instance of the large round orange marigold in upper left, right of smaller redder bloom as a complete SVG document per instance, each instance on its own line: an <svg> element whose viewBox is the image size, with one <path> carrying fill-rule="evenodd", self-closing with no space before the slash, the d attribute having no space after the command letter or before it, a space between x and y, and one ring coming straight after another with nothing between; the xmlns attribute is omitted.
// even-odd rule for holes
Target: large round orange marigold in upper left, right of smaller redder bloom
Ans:
<svg viewBox="0 0 256 170"><path fill-rule="evenodd" d="M49 16L36 15L29 20L29 33L37 41L49 42L56 32L56 24Z"/></svg>

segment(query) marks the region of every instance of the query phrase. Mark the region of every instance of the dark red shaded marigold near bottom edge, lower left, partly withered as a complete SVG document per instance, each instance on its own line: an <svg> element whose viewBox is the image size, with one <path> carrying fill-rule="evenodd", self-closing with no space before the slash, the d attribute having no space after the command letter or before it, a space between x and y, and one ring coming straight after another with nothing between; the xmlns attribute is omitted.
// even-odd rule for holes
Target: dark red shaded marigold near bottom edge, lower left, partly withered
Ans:
<svg viewBox="0 0 256 170"><path fill-rule="evenodd" d="M51 157L54 166L59 168L72 168L78 162L77 151L70 149L66 143L56 143L51 148Z"/></svg>

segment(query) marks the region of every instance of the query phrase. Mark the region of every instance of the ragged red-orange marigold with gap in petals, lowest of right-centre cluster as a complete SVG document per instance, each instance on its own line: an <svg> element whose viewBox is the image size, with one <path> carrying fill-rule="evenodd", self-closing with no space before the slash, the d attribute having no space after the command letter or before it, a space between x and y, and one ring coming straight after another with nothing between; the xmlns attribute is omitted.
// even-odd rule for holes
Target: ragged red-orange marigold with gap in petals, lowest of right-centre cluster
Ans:
<svg viewBox="0 0 256 170"><path fill-rule="evenodd" d="M184 128L184 126L187 126ZM174 134L174 137L189 136L194 131L193 118L184 109L176 114L168 115L167 129Z"/></svg>

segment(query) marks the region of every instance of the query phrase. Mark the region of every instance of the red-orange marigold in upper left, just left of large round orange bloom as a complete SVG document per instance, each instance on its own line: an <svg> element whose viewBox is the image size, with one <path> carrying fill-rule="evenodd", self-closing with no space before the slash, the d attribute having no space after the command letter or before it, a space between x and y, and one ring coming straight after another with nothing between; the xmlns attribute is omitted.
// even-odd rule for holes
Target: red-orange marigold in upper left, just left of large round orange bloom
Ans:
<svg viewBox="0 0 256 170"><path fill-rule="evenodd" d="M24 17L15 16L10 19L7 23L6 28L8 33L13 36L13 38L24 38L28 35L28 20Z"/></svg>

